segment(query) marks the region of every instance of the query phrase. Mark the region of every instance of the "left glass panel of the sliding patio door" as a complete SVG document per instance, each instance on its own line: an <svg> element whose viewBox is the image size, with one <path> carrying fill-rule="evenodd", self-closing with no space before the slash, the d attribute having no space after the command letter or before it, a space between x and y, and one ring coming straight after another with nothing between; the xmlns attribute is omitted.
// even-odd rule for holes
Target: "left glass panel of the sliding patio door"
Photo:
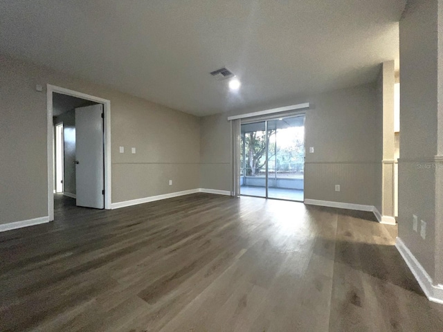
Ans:
<svg viewBox="0 0 443 332"><path fill-rule="evenodd" d="M242 124L240 194L266 197L266 122Z"/></svg>

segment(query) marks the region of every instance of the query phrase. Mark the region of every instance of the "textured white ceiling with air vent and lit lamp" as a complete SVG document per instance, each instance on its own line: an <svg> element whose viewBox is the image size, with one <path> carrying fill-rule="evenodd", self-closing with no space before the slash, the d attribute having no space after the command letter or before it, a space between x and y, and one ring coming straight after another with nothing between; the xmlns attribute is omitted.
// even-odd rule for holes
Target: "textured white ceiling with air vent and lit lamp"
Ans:
<svg viewBox="0 0 443 332"><path fill-rule="evenodd" d="M404 2L0 1L0 52L198 116L258 111L373 82ZM209 75L222 66L238 93Z"/></svg>

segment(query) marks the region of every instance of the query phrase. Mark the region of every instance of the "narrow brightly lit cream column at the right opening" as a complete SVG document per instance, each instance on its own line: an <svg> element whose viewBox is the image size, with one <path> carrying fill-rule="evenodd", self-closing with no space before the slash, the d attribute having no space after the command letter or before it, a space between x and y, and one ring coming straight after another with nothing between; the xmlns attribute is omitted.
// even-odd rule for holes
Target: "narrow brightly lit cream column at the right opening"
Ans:
<svg viewBox="0 0 443 332"><path fill-rule="evenodd" d="M383 63L383 161L381 175L381 223L395 225L395 133L394 133L394 60Z"/></svg>

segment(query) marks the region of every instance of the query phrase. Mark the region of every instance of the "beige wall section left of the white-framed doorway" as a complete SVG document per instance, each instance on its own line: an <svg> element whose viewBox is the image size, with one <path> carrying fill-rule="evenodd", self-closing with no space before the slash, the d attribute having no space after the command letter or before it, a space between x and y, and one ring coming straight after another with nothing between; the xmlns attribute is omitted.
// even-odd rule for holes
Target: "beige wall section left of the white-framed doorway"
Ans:
<svg viewBox="0 0 443 332"><path fill-rule="evenodd" d="M0 223L48 215L46 94L35 92L37 75L0 57Z"/></svg>

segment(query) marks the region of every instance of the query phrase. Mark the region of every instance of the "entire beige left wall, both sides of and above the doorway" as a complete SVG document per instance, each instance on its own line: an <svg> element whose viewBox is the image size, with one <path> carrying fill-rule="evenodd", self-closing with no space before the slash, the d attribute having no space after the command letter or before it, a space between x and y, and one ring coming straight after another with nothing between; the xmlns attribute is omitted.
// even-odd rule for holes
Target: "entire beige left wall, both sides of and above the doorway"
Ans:
<svg viewBox="0 0 443 332"><path fill-rule="evenodd" d="M0 223L48 215L46 89L36 84L111 100L113 203L199 187L199 118L0 57Z"/></svg>

